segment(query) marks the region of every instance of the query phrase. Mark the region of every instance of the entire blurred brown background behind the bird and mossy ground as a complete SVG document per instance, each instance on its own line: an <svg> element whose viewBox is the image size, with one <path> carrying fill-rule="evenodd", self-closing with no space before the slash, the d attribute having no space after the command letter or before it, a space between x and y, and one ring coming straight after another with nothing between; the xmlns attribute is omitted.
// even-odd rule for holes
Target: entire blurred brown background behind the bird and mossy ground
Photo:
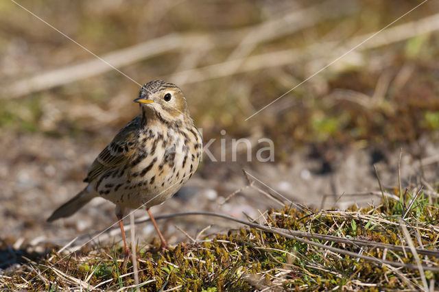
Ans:
<svg viewBox="0 0 439 292"><path fill-rule="evenodd" d="M0 2L2 246L67 243L115 223L114 205L100 198L69 219L45 220L84 187L91 162L138 114L139 84L156 79L182 88L217 160L226 143L225 161L204 156L185 188L152 208L156 215L257 218L280 206L270 194L313 208L379 204L373 165L385 189L399 190L399 173L403 189L438 187L439 1L402 19L422 2L16 3ZM233 138L249 139L252 161L246 149L233 161ZM257 161L261 138L273 141L273 162ZM233 227L202 217L159 222L171 243L186 240L178 228L196 236L211 224L206 233ZM137 229L140 241L156 236L150 224Z"/></svg>

